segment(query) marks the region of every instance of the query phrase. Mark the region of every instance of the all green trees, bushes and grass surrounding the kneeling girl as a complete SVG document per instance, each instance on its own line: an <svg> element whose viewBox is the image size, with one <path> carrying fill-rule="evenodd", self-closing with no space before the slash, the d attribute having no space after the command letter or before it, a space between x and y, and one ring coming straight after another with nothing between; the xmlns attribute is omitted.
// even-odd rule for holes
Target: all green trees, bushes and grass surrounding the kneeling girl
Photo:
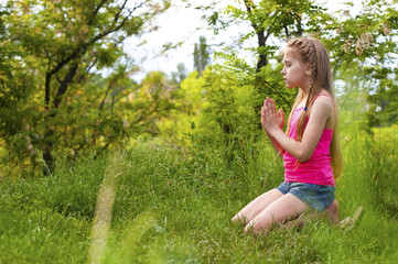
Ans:
<svg viewBox="0 0 398 264"><path fill-rule="evenodd" d="M236 24L247 34L213 54L222 63L200 37L194 72L132 80L123 41L174 3L1 6L0 262L395 263L397 1L365 1L355 16L306 0L180 1L215 35ZM331 54L341 218L358 206L366 215L352 230L312 221L244 234L230 218L283 178L259 110L272 97L290 111L295 91L284 89L276 43L298 35ZM252 38L255 64L240 55Z"/></svg>

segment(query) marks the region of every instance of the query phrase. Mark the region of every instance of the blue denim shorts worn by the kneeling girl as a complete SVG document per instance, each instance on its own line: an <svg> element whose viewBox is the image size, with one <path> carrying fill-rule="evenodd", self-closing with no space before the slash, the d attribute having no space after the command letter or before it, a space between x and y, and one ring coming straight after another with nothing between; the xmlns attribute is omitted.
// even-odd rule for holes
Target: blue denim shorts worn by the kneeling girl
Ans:
<svg viewBox="0 0 398 264"><path fill-rule="evenodd" d="M286 183L277 187L283 195L292 194L311 208L319 212L324 211L334 200L334 191L336 187L303 184L303 183Z"/></svg>

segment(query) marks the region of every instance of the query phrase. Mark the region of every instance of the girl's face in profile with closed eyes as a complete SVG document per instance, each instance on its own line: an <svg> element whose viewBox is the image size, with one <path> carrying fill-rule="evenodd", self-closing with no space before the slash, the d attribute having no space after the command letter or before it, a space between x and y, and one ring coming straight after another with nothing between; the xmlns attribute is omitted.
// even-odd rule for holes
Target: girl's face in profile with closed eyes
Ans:
<svg viewBox="0 0 398 264"><path fill-rule="evenodd" d="M283 80L287 88L310 87L310 74L308 64L303 63L295 48L288 47L283 55Z"/></svg>

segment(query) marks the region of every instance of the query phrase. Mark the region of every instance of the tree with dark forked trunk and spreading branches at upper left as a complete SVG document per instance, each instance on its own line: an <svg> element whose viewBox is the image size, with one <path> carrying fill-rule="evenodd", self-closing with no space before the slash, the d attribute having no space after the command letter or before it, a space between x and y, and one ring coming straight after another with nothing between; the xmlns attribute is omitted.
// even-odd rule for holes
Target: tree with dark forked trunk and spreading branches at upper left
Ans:
<svg viewBox="0 0 398 264"><path fill-rule="evenodd" d="M22 0L9 1L9 6L12 13L7 16L7 30L26 54L22 64L34 72L31 89L43 89L37 109L41 120L35 125L42 134L46 172L52 173L60 136L57 116L65 101L95 72L112 66L123 54L123 41L141 34L148 21L168 9L169 1Z"/></svg>

